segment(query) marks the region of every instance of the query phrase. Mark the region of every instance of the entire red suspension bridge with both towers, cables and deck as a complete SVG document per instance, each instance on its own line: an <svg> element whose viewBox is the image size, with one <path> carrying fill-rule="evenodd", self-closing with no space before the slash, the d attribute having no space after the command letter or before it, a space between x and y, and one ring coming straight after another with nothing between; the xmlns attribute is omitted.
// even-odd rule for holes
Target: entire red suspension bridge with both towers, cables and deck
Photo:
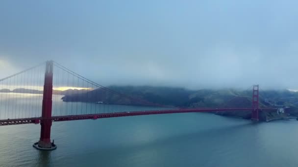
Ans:
<svg viewBox="0 0 298 167"><path fill-rule="evenodd" d="M250 108L176 108L104 87L53 61L44 65L0 80L0 126L40 124L40 140L33 145L38 149L56 148L50 130L57 121L215 111L251 111L251 119L258 121L259 110L275 109L259 108L258 85L252 87Z"/></svg>

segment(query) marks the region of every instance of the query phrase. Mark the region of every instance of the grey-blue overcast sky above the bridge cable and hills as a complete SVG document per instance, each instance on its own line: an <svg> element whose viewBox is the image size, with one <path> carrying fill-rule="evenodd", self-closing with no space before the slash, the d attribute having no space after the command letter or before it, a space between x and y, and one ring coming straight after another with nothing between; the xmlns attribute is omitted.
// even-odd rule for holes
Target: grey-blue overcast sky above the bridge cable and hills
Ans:
<svg viewBox="0 0 298 167"><path fill-rule="evenodd" d="M297 0L0 0L0 78L54 60L103 85L298 89Z"/></svg>

